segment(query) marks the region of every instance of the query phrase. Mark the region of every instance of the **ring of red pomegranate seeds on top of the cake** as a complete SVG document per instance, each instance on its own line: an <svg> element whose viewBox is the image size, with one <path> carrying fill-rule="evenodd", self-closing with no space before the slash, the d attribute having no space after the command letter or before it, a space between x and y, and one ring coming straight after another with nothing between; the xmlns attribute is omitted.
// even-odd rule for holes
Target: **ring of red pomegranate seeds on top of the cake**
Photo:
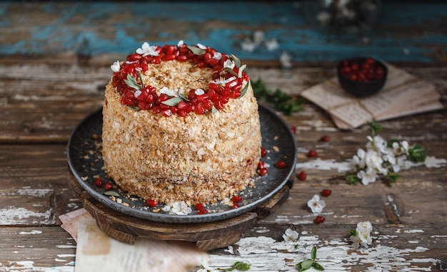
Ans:
<svg viewBox="0 0 447 272"><path fill-rule="evenodd" d="M156 46L156 52L159 56L143 56L139 53L133 53L127 56L127 61L122 63L119 72L114 73L112 83L121 95L121 104L139 108L140 110L153 110L154 113L161 113L166 117L171 115L186 116L189 113L203 115L214 106L216 110L221 110L231 98L241 97L243 82L250 79L246 73L242 71L241 78L236 77L233 73L224 72L224 63L229 60L229 56L221 53L221 58L214 58L216 49L203 49L204 53L197 55L191 49L182 44L180 46L162 47ZM173 98L172 96L161 93L158 95L156 89L152 86L144 86L141 88L141 94L135 95L135 89L129 86L125 80L127 75L131 75L137 81L139 73L148 70L150 64L159 64L161 61L191 61L198 68L211 68L214 70L212 80L209 83L208 90L204 90L204 94L196 95L196 90L189 90L187 99L181 100L176 105L168 105L164 103L166 100ZM238 67L234 67L234 74L238 75ZM226 82L226 80L234 78ZM216 80L224 80L225 83L216 83ZM141 82L139 83L141 84Z"/></svg>

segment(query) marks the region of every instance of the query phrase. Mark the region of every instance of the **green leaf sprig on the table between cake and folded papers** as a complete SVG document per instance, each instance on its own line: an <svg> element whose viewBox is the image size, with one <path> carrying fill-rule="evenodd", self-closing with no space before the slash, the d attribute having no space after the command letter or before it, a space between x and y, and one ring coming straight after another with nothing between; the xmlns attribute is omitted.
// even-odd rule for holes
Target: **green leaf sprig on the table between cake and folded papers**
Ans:
<svg viewBox="0 0 447 272"><path fill-rule="evenodd" d="M283 112L285 115L291 115L292 113L303 110L304 98L299 97L293 99L290 95L287 95L283 91L276 89L273 93L266 88L261 78L258 78L255 82L251 83L253 87L254 95L258 100L266 101L273 105L273 108Z"/></svg>

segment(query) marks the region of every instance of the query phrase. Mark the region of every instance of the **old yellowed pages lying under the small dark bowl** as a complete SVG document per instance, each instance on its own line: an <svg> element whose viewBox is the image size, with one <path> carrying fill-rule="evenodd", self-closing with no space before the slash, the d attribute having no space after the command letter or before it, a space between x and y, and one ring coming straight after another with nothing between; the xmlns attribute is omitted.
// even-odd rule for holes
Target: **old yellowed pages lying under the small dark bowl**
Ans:
<svg viewBox="0 0 447 272"><path fill-rule="evenodd" d="M386 84L376 95L356 98L340 87L336 77L304 90L301 95L326 110L341 129L352 129L373 119L387 120L443 108L441 95L433 84L388 63L386 66Z"/></svg>

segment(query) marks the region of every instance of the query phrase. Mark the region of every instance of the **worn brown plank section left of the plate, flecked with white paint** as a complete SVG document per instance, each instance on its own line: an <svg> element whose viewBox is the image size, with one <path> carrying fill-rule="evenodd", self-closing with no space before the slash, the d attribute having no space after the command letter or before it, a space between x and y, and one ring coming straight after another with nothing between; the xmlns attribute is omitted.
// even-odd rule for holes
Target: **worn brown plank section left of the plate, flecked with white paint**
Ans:
<svg viewBox="0 0 447 272"><path fill-rule="evenodd" d="M51 226L82 207L66 176L65 145L0 145L0 225Z"/></svg>

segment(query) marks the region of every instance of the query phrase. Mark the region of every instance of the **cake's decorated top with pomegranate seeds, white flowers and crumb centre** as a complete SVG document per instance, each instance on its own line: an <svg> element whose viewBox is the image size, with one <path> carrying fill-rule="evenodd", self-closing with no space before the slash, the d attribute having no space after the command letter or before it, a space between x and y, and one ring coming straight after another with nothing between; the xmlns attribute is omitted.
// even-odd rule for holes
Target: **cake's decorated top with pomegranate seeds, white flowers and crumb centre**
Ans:
<svg viewBox="0 0 447 272"><path fill-rule="evenodd" d="M157 73L151 66L159 68ZM110 67L121 104L131 110L152 110L166 117L216 113L231 99L242 98L250 81L244 72L246 65L233 54L220 53L201 43L188 46L184 41L164 46L145 42L126 61L116 61ZM202 85L189 88L185 73L196 77L190 81ZM174 83L166 83L168 77ZM161 83L151 83L150 78L161 78Z"/></svg>

